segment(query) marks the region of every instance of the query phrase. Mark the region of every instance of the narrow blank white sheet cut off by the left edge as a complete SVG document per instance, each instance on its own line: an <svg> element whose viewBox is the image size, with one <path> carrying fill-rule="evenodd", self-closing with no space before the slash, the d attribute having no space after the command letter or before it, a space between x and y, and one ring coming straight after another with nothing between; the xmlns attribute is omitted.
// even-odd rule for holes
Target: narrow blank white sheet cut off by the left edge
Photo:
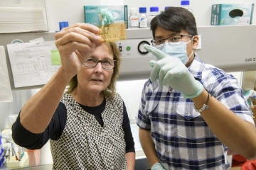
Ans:
<svg viewBox="0 0 256 170"><path fill-rule="evenodd" d="M0 101L12 102L11 84L3 46L0 46L0 80Z"/></svg>

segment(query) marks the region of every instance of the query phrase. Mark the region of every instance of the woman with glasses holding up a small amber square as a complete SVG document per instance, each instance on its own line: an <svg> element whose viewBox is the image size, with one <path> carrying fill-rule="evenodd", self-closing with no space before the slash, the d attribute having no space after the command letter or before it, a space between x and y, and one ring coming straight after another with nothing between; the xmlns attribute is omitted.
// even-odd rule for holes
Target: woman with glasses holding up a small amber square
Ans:
<svg viewBox="0 0 256 170"><path fill-rule="evenodd" d="M129 118L114 86L119 50L99 31L78 23L56 33L62 65L13 125L22 147L38 149L50 139L53 169L134 169Z"/></svg>

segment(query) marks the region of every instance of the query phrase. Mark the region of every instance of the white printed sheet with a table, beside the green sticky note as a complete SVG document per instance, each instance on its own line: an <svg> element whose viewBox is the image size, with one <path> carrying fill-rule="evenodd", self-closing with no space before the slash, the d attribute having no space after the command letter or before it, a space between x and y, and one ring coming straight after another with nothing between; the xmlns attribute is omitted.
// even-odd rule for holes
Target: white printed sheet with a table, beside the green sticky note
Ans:
<svg viewBox="0 0 256 170"><path fill-rule="evenodd" d="M60 67L52 65L50 50L57 50L55 41L7 45L14 76L14 86L46 84Z"/></svg>

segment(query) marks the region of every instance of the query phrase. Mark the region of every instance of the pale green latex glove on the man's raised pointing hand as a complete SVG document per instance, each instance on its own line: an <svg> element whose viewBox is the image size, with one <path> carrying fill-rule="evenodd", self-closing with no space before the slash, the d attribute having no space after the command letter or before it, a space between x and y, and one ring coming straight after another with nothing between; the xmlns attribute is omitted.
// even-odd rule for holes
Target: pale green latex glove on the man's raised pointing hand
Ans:
<svg viewBox="0 0 256 170"><path fill-rule="evenodd" d="M203 85L196 81L181 60L170 57L151 45L144 45L144 49L151 52L158 60L149 62L153 67L150 75L152 82L156 81L158 76L161 86L169 85L176 91L181 91L185 98L195 98L202 93Z"/></svg>

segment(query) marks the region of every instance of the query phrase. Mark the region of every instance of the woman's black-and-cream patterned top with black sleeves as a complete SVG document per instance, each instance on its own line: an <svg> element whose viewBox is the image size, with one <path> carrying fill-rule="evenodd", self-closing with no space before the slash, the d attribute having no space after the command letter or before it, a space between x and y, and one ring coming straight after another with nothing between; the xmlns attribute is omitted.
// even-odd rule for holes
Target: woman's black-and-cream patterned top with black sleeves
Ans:
<svg viewBox="0 0 256 170"><path fill-rule="evenodd" d="M85 106L80 106L69 93L63 94L56 111L63 111L59 109L63 106L66 117L61 113L54 114L50 123L59 127L55 130L58 135L51 135L50 128L41 134L28 132L22 127L18 115L13 125L14 141L22 147L38 149L51 136L53 169L126 169L127 141L128 152L134 152L134 142L129 125L129 139L124 137L124 113L128 123L129 118L122 98L118 94L114 98L105 96L105 109L100 114L104 124L96 115L88 113Z"/></svg>

